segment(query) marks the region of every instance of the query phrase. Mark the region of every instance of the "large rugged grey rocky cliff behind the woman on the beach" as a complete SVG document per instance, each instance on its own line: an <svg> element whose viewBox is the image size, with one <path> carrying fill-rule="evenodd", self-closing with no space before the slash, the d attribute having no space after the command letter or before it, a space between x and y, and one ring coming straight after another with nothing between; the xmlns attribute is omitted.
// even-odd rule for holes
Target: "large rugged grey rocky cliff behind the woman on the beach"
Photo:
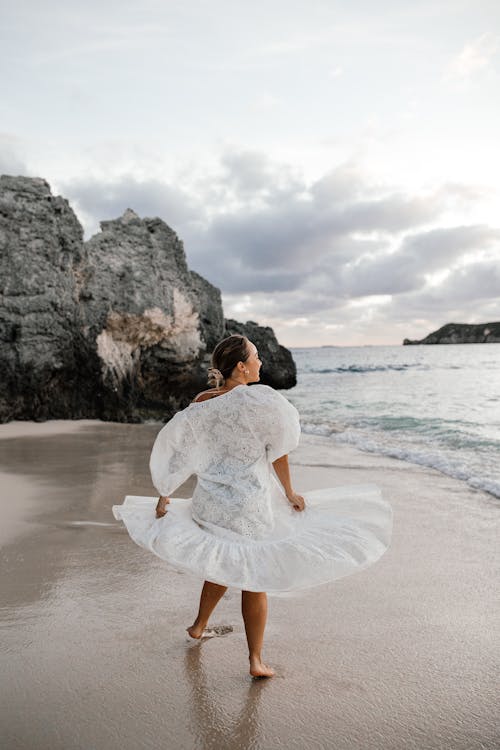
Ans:
<svg viewBox="0 0 500 750"><path fill-rule="evenodd" d="M0 421L167 419L206 387L219 290L160 219L128 209L101 230L83 242L44 180L0 177ZM271 329L227 323L256 336L265 382L295 384Z"/></svg>

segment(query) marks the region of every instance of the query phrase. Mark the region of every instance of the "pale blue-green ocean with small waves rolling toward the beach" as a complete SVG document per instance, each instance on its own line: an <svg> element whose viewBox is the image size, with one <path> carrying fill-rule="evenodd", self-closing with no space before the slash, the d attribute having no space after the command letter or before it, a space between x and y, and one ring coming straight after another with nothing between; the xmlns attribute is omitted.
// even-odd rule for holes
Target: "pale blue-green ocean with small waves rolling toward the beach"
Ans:
<svg viewBox="0 0 500 750"><path fill-rule="evenodd" d="M292 349L302 430L500 497L500 344Z"/></svg>

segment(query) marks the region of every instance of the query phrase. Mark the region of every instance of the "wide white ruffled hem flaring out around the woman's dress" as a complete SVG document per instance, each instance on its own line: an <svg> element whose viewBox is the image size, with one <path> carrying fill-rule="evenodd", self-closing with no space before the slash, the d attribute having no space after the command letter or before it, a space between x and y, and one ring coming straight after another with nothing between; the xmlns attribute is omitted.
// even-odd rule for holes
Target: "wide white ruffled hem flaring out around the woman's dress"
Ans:
<svg viewBox="0 0 500 750"><path fill-rule="evenodd" d="M293 512L286 534L266 539L215 535L191 515L191 500L171 498L156 518L157 498L129 495L113 505L130 537L175 569L244 591L268 594L311 588L364 570L390 544L391 506L374 485L303 493L306 509Z"/></svg>

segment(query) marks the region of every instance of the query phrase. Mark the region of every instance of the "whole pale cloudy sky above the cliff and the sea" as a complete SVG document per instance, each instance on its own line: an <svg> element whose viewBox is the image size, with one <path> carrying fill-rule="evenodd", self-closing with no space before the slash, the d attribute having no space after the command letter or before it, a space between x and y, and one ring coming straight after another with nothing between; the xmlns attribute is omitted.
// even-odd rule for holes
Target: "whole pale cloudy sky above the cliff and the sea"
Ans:
<svg viewBox="0 0 500 750"><path fill-rule="evenodd" d="M286 346L500 320L497 0L0 0L0 173Z"/></svg>

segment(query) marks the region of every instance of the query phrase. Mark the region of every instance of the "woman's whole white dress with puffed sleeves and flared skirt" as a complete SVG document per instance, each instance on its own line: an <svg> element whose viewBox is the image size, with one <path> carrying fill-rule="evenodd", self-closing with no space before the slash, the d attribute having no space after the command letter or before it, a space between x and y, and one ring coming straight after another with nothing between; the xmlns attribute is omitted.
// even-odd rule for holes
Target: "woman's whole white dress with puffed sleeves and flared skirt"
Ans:
<svg viewBox="0 0 500 750"><path fill-rule="evenodd" d="M156 497L113 506L131 538L178 570L246 591L280 594L341 578L389 546L392 511L373 485L301 493L293 510L272 462L297 447L299 415L266 385L236 386L190 404L158 434L151 475ZM195 474L190 499L172 493Z"/></svg>

